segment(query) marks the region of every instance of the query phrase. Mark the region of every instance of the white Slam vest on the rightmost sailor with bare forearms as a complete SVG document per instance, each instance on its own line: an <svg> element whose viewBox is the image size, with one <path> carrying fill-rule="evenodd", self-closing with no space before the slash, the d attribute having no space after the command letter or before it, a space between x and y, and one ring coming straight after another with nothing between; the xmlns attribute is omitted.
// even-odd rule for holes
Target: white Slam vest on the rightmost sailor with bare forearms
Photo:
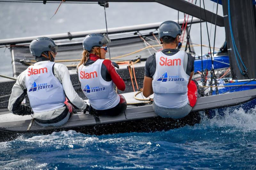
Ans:
<svg viewBox="0 0 256 170"><path fill-rule="evenodd" d="M156 72L152 87L154 102L159 107L180 108L188 103L188 80L183 66L184 51L168 56L161 51L156 53ZM187 57L187 56L186 56ZM187 58L186 58L187 61Z"/></svg>

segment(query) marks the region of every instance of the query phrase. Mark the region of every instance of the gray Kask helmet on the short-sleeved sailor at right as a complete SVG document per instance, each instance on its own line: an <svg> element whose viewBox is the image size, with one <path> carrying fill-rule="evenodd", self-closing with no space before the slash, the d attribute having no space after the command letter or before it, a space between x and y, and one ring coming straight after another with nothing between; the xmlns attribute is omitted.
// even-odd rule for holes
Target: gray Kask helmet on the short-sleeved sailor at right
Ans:
<svg viewBox="0 0 256 170"><path fill-rule="evenodd" d="M164 21L158 28L159 39L164 36L176 38L178 34L181 35L182 30L180 25L174 21Z"/></svg>

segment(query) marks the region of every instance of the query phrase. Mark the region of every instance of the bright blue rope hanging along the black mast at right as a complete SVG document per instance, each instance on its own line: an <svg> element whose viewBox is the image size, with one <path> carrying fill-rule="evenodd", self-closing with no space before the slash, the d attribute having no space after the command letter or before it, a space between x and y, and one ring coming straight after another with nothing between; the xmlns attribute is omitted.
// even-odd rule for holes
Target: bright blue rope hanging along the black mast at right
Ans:
<svg viewBox="0 0 256 170"><path fill-rule="evenodd" d="M245 67L245 65L244 65L244 63L243 63L243 61L242 61L242 59L241 59L241 56L240 56L240 54L238 53L238 50L237 50L237 48L236 48L236 43L235 43L235 39L234 39L234 36L233 36L233 30L232 30L231 18L230 18L230 0L228 0L228 21L229 21L229 28L230 28L230 34L231 34L232 45L233 45L233 49L235 49L235 50L234 50L234 53L235 53L235 56L236 56L236 63L237 63L237 65L238 65L238 68L239 68L241 74L242 74L242 75L245 75L245 74L243 73L243 71L242 71L240 65L239 65L239 62L238 62L238 59L237 59L237 55L236 55L236 53L237 53L237 54L238 54L238 57L239 57L239 59L240 59L240 61L241 61L241 63L242 63L242 65L243 65L243 67L244 67L244 70L247 72L247 69L246 69L246 67Z"/></svg>

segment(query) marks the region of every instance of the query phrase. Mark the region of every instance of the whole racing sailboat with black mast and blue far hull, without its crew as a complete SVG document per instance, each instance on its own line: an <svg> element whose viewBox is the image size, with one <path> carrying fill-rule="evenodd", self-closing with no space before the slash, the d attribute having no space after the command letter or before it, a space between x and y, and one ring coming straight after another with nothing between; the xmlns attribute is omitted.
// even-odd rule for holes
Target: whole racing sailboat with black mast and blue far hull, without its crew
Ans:
<svg viewBox="0 0 256 170"><path fill-rule="evenodd" d="M86 0L83 0L86 1ZM90 0L89 0L90 1ZM46 1L45 1L46 2ZM87 1L86 1L87 2ZM92 2L92 0L90 1ZM93 1L94 2L94 1ZM107 2L133 2L132 0L108 0ZM139 2L139 1L138 1ZM142 2L142 1L141 1ZM253 11L252 1L246 2L233 2L230 3L229 0L223 1L223 13L224 17L228 17L225 19L217 14L213 14L210 11L206 11L205 9L198 7L194 4L188 3L184 0L177 0L175 2L169 2L167 0L157 1L157 0L148 0L143 2L158 2L160 4L164 4L166 6L172 7L176 10L188 13L189 15L195 16L200 19L194 19L188 21L189 23L202 22L205 20L207 22L210 21L211 17L215 20L215 25L225 26L226 29L226 43L225 48L228 52L228 61L227 55L226 59L223 56L218 59L218 53L212 54L211 56L211 67L208 70L211 70L210 79L207 80L208 71L206 68L202 70L197 70L200 72L200 96L196 102L195 107L192 109L191 113L184 118L181 119L171 119L171 118L162 118L156 115L156 113L152 109L151 98L143 97L140 94L141 90L138 87L142 86L143 77L144 77L144 65L146 56L149 53L154 53L161 48L161 45L157 42L157 32L156 29L160 25L160 23L148 24L148 25L139 25L139 26L130 26L130 27L119 27L108 29L109 37L113 42L111 44L112 51L116 51L116 54L113 52L112 56L116 56L111 58L111 61L118 62L120 64L120 69L118 73L122 78L130 80L128 82L128 88L123 94L126 98L129 106L127 110L116 116L116 117L96 117L90 114L84 114L83 112L76 110L76 114L74 114L70 120L61 127L47 127L42 128L39 125L31 122L30 116L23 116L22 119L20 116L12 115L8 111L1 111L0 115L0 141L4 140L12 140L16 138L19 134L22 133L43 133L49 134L53 131L60 130L69 130L73 129L78 132L88 133L88 134L107 134L107 133L123 133L130 131L156 131L156 130L168 130L171 128L182 127L186 124L194 125L195 123L200 122L200 114L199 112L204 112L204 114L209 117L212 116L213 113L216 112L225 112L225 109L229 109L230 111L242 107L245 111L255 107L256 105L256 69L253 67L256 63L256 54L253 50L256 38L256 29L255 29L255 18L254 14L246 9L247 12L245 14L248 18L243 18L243 22L247 20L253 25L248 28L244 28L238 24L238 21L235 19L237 15L239 16L239 12L235 12L236 8L243 8L244 6L250 7L250 10ZM217 1L216 1L217 2ZM218 2L219 3L219 2ZM240 3L240 4L239 4ZM201 3L200 3L201 4ZM239 4L239 5L238 5ZM183 5L183 6L182 6ZM182 7L181 7L182 6ZM187 7L187 8L186 8ZM186 11L187 10L187 11ZM254 9L255 10L255 9ZM200 11L200 12L199 12ZM241 12L244 12L244 9L240 9ZM200 14L199 14L200 13ZM204 15L203 15L204 14ZM211 17L210 17L211 15ZM180 21L179 21L180 22ZM238 27L236 29L236 33L233 33L232 26ZM144 32L140 33L142 30L155 30L153 32ZM244 30L251 31L252 35L248 36L248 41L243 42L240 46L237 46L236 43L241 41L241 37L239 35L244 33ZM93 33L106 33L107 30L93 30ZM235 29L234 29L235 31ZM125 32L125 34L122 34ZM85 35L92 33L92 31L80 32L80 33L67 33L67 34L55 34L55 35L46 35L52 39L60 40L69 38L70 41L59 41L58 49L61 56L63 56L63 60L58 62L66 62L71 73L71 81L74 85L75 90L79 93L81 91L80 85L78 84L78 78L75 72L76 64L79 59L70 60L68 56L70 56L71 52L73 54L77 54L77 52L81 49L81 40L72 40L73 38L84 37ZM32 56L29 56L29 48L28 42L33 40L36 37L26 37L19 39L9 39L9 40L0 40L1 45L12 44L11 54L13 59L13 73L14 77L19 75L20 72L25 70L28 65L33 64ZM147 41L146 41L147 40ZM23 43L20 45L20 43ZM27 43L27 44L26 44ZM148 43L148 44L147 44ZM15 44L15 45L13 45ZM147 47L144 45L147 44ZM243 45L248 45L247 48L243 49ZM144 47L140 48L140 50L134 51L132 53L127 52L128 55L118 54L118 51L115 48L124 47L124 50L129 47ZM60 48L59 48L60 47ZM158 48L157 48L158 47ZM202 44L201 44L202 47ZM223 46L224 48L224 46ZM214 49L214 48L213 48ZM147 54L145 54L147 51ZM139 53L140 52L140 53ZM137 53L137 54L136 54ZM21 55L22 54L22 55ZM129 58L136 54L136 57ZM139 55L138 55L139 54ZM250 54L250 55L247 55ZM209 54L208 54L209 55ZM239 55L239 56L238 56ZM76 56L79 56L77 54ZM247 56L242 58L241 56ZM30 58L29 58L30 57ZM204 67L204 62L208 61L208 58L204 59L205 56L201 55L199 57L199 62L201 62L201 67ZM249 57L251 57L249 59ZM116 61L117 59L122 58L122 61ZM218 60L217 60L218 59ZM127 62L128 61L128 62ZM198 62L198 63L199 63ZM250 63L252 62L252 63ZM133 64L136 63L136 64ZM203 63L203 64L202 64ZM229 66L232 73L232 78L216 78L215 69L221 69L223 67L218 68L218 64L226 64ZM132 64L134 65L134 72L132 74ZM195 62L196 64L196 62ZM127 69L128 65L128 69ZM246 67L245 67L246 66ZM227 67L227 66L226 66ZM241 67L244 67L243 69ZM200 66L198 66L200 68ZM212 70L214 69L214 70ZM213 72L212 72L213 71ZM227 71L225 71L226 73ZM225 74L224 73L224 74ZM224 75L223 74L223 75ZM214 77L215 76L215 77ZM132 79L137 80L137 91L134 87L134 83L131 81ZM213 82L215 84L213 84ZM13 81L1 82L0 85L9 86L11 89L13 85ZM135 92L131 92L131 91ZM208 91L207 91L208 90ZM9 91L10 92L10 91ZM9 93L10 94L10 93ZM8 95L8 94L6 94ZM141 96L141 97L140 97ZM8 96L7 96L8 97ZM140 98L139 98L140 97ZM28 101L28 100L26 100ZM7 101L8 102L8 101ZM8 115L8 120L4 119L6 115Z"/></svg>

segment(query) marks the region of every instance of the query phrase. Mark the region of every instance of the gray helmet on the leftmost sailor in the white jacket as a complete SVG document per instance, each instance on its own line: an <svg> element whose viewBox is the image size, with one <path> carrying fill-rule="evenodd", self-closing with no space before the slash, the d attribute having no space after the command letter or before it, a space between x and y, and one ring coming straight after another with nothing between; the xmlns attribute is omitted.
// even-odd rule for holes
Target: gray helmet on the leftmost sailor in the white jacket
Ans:
<svg viewBox="0 0 256 170"><path fill-rule="evenodd" d="M52 51L54 55L57 54L57 45L48 37L39 37L31 41L29 45L31 55L40 57L44 51Z"/></svg>

